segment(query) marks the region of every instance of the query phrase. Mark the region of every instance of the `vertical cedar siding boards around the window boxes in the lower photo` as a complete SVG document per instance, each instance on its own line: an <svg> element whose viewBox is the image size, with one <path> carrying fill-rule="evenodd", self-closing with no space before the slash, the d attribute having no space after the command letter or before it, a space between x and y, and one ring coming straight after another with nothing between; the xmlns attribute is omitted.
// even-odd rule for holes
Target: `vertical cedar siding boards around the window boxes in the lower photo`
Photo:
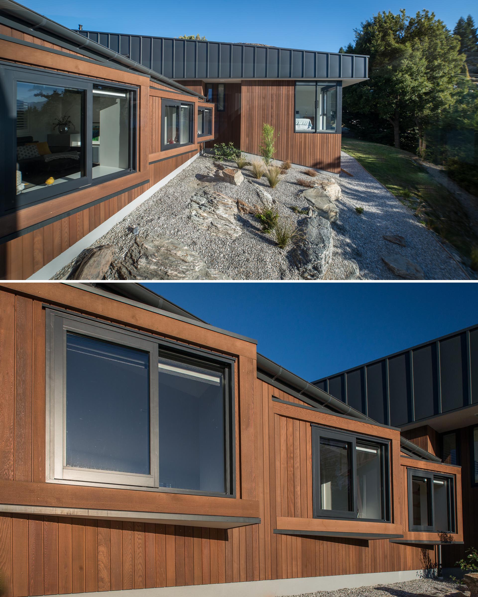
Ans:
<svg viewBox="0 0 478 597"><path fill-rule="evenodd" d="M48 300L0 288L0 478L10 481L45 479L42 302ZM118 306L116 322L122 321L122 308ZM423 546L274 534L276 516L312 517L310 424L274 413L272 396L301 401L257 380L254 359L239 355L236 385L238 497L258 500L261 524L221 530L0 513L0 573L6 597L434 565L434 550Z"/></svg>

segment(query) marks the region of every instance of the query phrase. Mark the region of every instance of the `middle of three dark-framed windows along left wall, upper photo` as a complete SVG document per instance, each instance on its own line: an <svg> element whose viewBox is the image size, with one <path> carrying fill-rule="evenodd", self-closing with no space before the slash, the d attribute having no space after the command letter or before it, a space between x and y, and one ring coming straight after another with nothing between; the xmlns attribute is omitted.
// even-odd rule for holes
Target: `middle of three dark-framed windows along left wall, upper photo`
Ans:
<svg viewBox="0 0 478 597"><path fill-rule="evenodd" d="M194 104L162 100L161 149L173 149L193 142Z"/></svg>

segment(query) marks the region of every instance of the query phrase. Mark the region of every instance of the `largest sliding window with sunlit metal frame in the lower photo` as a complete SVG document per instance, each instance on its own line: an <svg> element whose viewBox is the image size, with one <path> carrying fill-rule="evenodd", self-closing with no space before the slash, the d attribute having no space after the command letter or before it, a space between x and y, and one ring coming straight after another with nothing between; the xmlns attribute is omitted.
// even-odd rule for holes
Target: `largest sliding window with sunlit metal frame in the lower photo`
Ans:
<svg viewBox="0 0 478 597"><path fill-rule="evenodd" d="M51 480L234 493L233 359L47 317Z"/></svg>

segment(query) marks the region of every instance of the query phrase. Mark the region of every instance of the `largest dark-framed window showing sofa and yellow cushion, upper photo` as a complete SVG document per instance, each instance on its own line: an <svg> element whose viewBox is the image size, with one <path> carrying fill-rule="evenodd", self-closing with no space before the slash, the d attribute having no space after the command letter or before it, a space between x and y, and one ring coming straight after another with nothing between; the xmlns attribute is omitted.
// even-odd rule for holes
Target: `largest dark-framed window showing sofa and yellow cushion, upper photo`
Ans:
<svg viewBox="0 0 478 597"><path fill-rule="evenodd" d="M135 90L21 67L0 67L0 78L9 90L0 211L135 170Z"/></svg>

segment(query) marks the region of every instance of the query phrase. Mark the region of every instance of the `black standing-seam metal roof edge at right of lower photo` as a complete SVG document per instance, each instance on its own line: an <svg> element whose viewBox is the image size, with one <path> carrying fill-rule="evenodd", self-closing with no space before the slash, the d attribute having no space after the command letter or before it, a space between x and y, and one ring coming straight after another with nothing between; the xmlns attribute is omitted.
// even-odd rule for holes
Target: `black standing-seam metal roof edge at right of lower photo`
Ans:
<svg viewBox="0 0 478 597"><path fill-rule="evenodd" d="M478 406L478 325L313 382L380 423L410 426Z"/></svg>

